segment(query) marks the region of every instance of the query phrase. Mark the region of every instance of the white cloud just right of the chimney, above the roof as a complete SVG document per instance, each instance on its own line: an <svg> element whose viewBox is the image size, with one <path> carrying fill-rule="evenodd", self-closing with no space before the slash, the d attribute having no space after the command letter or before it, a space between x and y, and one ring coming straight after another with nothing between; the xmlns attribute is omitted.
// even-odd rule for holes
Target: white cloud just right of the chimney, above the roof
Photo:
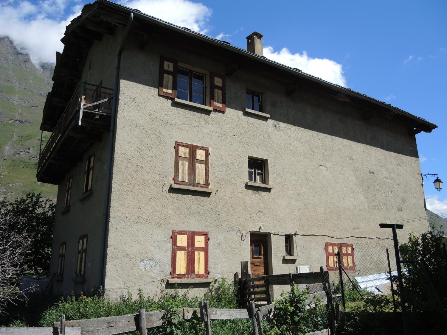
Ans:
<svg viewBox="0 0 447 335"><path fill-rule="evenodd" d="M287 48L283 48L280 51L274 51L271 46L264 48L264 56L275 62L290 67L296 67L303 72L333 84L346 87L346 78L343 76L342 64L338 64L333 60L326 58L311 58L306 51L303 51L303 54L292 54Z"/></svg>

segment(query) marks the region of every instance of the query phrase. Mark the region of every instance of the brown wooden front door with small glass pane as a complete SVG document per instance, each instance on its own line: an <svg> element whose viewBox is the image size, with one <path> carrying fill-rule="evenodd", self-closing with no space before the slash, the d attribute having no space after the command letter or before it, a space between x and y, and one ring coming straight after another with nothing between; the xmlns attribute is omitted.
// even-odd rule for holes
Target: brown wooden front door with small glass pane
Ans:
<svg viewBox="0 0 447 335"><path fill-rule="evenodd" d="M253 277L269 274L267 251L267 235L250 233L250 272Z"/></svg>

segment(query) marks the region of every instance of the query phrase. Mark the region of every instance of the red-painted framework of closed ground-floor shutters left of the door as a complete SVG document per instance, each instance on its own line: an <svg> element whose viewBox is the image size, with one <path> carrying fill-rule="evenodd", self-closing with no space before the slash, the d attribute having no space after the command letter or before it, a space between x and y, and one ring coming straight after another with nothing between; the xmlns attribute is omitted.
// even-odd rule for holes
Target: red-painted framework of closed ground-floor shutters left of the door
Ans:
<svg viewBox="0 0 447 335"><path fill-rule="evenodd" d="M186 247L177 246L177 235L186 235ZM204 246L196 247L195 236L204 236ZM209 234L207 231L193 230L173 230L171 235L171 278L173 279L194 279L208 278L208 254L209 254ZM180 249L180 250L179 250ZM186 251L186 273L176 272L177 251ZM195 252L204 251L204 273L195 273Z"/></svg>

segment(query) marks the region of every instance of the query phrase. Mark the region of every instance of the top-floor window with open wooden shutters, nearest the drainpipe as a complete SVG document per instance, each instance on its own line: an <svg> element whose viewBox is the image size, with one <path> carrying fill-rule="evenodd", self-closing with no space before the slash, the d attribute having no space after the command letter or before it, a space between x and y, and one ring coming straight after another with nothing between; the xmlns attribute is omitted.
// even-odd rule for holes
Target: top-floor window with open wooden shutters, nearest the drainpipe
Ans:
<svg viewBox="0 0 447 335"><path fill-rule="evenodd" d="M158 94L199 105L207 105L207 77L210 80L210 105L225 112L225 77L217 73L205 75L200 71L178 67L174 59L160 57Z"/></svg>

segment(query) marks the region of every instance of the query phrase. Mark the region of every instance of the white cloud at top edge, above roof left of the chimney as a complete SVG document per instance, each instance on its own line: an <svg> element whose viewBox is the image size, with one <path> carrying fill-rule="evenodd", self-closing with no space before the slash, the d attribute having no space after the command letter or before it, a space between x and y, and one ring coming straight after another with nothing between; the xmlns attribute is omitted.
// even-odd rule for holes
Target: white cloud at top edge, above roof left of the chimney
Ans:
<svg viewBox="0 0 447 335"><path fill-rule="evenodd" d="M188 0L124 0L121 4L201 34L207 33L207 23L213 13L204 4Z"/></svg>

